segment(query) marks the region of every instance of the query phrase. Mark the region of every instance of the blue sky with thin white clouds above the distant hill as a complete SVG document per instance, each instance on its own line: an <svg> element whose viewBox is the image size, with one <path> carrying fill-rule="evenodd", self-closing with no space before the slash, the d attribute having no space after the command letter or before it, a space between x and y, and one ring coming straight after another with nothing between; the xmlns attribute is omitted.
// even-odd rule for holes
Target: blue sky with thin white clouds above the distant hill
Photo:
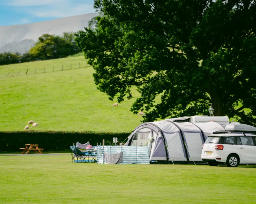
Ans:
<svg viewBox="0 0 256 204"><path fill-rule="evenodd" d="M0 26L94 13L93 0L0 0Z"/></svg>

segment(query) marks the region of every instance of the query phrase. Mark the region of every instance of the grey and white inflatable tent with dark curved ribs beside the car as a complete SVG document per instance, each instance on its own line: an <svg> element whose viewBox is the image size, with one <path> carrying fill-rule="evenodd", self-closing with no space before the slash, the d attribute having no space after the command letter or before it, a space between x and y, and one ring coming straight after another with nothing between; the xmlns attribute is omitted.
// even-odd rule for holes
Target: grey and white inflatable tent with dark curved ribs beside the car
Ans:
<svg viewBox="0 0 256 204"><path fill-rule="evenodd" d="M175 123L171 120L139 125L129 135L125 146L148 146L151 163L205 163L201 159L206 137L224 130L215 122Z"/></svg>

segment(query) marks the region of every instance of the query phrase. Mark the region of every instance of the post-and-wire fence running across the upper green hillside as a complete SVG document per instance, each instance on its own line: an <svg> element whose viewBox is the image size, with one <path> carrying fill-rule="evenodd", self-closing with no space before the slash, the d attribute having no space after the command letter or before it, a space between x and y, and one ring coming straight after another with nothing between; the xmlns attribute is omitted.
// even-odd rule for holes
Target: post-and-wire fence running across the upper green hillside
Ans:
<svg viewBox="0 0 256 204"><path fill-rule="evenodd" d="M43 74L43 73L49 73L49 72L61 72L65 70L71 70L71 69L81 69L90 67L90 65L84 62L78 62L76 64L62 64L61 66L52 66L52 67L34 67L34 68L28 68L23 70L10 70L8 73L0 73L0 78L5 77L18 77L18 76L24 76L24 75L35 75L35 74Z"/></svg>

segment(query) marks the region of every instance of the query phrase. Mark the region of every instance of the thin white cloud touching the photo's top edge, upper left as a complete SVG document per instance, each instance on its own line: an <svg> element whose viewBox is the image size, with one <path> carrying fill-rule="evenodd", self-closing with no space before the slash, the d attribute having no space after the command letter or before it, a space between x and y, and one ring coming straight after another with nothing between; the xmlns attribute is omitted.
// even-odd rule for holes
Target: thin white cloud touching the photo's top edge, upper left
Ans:
<svg viewBox="0 0 256 204"><path fill-rule="evenodd" d="M66 2L67 0L3 0L5 5L9 6L42 6L55 3Z"/></svg>

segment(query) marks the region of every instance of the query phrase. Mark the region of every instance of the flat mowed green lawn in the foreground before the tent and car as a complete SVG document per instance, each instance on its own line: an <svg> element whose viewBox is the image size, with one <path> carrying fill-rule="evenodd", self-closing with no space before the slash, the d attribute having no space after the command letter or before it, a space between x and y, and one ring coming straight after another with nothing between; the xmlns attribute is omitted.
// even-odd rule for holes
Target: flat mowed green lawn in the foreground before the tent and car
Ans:
<svg viewBox="0 0 256 204"><path fill-rule="evenodd" d="M0 156L0 203L255 203L253 167L71 163Z"/></svg>

